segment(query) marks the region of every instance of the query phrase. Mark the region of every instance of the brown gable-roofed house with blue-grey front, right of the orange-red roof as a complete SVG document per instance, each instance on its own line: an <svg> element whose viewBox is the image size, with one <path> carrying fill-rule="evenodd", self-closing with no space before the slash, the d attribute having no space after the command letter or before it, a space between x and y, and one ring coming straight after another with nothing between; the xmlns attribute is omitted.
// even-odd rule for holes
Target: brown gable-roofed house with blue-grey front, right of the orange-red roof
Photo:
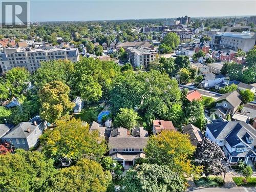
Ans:
<svg viewBox="0 0 256 192"><path fill-rule="evenodd" d="M238 106L241 104L240 94L237 91L223 94L217 100L215 100L216 106L210 109L211 113L214 113L219 118L225 118L226 115L234 114Z"/></svg>

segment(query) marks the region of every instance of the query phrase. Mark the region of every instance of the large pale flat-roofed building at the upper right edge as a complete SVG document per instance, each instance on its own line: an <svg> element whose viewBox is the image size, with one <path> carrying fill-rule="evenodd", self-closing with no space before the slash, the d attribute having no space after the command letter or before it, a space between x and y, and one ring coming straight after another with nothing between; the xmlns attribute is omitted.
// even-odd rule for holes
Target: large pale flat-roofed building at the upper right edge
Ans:
<svg viewBox="0 0 256 192"><path fill-rule="evenodd" d="M216 34L209 34L209 37L211 37L210 46L212 48L229 48L235 51L242 49L245 52L253 49L256 41L256 34L250 32L219 32Z"/></svg>

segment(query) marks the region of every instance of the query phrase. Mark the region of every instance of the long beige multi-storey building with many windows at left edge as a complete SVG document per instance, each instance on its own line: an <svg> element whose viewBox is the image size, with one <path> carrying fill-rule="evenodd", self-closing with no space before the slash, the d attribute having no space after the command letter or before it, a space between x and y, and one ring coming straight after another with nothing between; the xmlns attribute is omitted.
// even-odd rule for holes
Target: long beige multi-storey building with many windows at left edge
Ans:
<svg viewBox="0 0 256 192"><path fill-rule="evenodd" d="M0 66L3 73L15 67L25 67L30 73L40 67L41 61L49 60L79 60L77 48L66 49L30 49L30 48L6 48L0 53Z"/></svg>

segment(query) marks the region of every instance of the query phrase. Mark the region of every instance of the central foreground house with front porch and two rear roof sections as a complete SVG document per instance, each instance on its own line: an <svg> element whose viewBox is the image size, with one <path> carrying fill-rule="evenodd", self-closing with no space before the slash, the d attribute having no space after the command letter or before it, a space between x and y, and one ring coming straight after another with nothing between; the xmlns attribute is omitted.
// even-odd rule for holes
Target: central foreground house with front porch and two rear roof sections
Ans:
<svg viewBox="0 0 256 192"><path fill-rule="evenodd" d="M117 127L112 130L109 137L109 155L125 169L131 168L136 159L145 157L143 148L147 141L148 134L141 128L134 129L130 135L127 129Z"/></svg>

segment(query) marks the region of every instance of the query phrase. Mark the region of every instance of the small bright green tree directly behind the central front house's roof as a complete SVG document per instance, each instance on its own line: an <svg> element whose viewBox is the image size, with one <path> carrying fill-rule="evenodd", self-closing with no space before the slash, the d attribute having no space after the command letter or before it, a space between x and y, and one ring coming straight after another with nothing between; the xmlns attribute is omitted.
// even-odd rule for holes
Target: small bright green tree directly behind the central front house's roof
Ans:
<svg viewBox="0 0 256 192"><path fill-rule="evenodd" d="M113 123L115 127L122 126L131 130L138 124L139 119L138 113L133 109L121 108Z"/></svg>

